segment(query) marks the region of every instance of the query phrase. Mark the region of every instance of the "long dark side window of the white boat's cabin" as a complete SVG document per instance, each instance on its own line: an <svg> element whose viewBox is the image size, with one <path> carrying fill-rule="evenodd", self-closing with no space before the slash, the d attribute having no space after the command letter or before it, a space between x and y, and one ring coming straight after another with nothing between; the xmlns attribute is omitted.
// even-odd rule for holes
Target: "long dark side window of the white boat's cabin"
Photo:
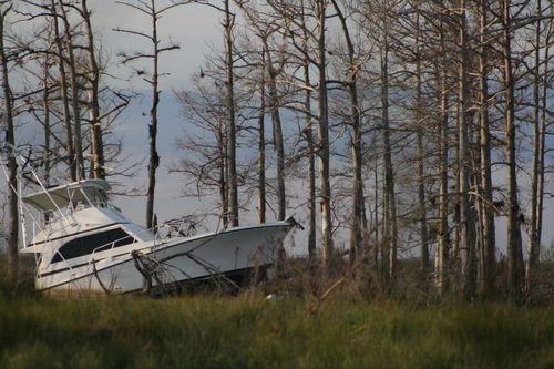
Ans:
<svg viewBox="0 0 554 369"><path fill-rule="evenodd" d="M63 259L72 259L74 257L92 254L92 252L102 252L112 247L120 247L134 243L125 230L121 228L104 230L93 235L79 237L62 245L58 253L52 258L51 263L58 263Z"/></svg>

